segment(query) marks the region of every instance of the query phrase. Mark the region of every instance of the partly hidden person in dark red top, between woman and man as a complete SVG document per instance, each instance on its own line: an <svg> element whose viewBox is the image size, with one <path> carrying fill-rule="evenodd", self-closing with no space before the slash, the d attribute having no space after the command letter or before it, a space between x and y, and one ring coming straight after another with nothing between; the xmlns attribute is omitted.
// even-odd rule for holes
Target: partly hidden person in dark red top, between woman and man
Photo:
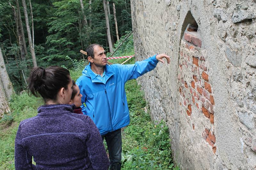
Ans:
<svg viewBox="0 0 256 170"><path fill-rule="evenodd" d="M71 95L70 102L68 104L71 104L71 105L74 104L74 110L73 110L74 113L83 114L82 108L79 107L82 105L81 103L82 95L80 94L80 89L76 85L76 82L74 80L72 80L72 83L73 83L73 86L72 86L73 92Z"/></svg>

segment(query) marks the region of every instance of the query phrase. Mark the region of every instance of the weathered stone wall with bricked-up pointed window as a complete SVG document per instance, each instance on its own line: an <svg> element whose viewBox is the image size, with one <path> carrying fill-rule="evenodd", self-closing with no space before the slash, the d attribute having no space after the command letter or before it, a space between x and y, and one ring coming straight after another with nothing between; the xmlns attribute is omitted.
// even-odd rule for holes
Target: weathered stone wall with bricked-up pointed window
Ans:
<svg viewBox="0 0 256 170"><path fill-rule="evenodd" d="M256 1L131 0L139 83L181 169L256 169Z"/></svg>

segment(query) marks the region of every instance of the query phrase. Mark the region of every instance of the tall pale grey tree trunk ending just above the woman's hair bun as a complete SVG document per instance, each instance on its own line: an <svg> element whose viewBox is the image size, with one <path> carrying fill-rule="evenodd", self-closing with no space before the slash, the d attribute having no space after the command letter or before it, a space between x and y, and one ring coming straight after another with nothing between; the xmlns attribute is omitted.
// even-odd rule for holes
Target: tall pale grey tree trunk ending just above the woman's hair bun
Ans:
<svg viewBox="0 0 256 170"><path fill-rule="evenodd" d="M29 43L29 47L30 47L30 53L31 53L31 56L32 56L33 65L34 65L34 67L37 67L36 54L35 54L35 49L34 49L33 44L32 44L30 26L29 26L29 22L28 22L27 4L26 4L25 0L22 0L22 5L23 5L25 22L26 22L26 27L27 27L27 32L28 32L28 43Z"/></svg>

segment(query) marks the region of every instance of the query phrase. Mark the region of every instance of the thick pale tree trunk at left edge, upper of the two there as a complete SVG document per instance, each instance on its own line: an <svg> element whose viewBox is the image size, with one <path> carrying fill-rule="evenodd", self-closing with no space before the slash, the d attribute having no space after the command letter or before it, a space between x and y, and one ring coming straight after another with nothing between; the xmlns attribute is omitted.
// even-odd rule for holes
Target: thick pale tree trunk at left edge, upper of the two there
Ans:
<svg viewBox="0 0 256 170"><path fill-rule="evenodd" d="M11 99L13 93L12 82L6 71L2 50L0 48L0 81L3 83L4 93L8 100Z"/></svg>

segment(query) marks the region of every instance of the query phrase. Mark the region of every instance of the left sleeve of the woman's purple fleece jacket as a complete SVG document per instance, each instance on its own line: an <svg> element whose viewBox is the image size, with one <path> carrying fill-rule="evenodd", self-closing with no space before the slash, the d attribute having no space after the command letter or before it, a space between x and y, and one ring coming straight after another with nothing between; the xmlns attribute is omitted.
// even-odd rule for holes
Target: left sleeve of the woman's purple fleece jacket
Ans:
<svg viewBox="0 0 256 170"><path fill-rule="evenodd" d="M15 149L14 149L14 164L15 169L33 169L32 167L32 156L28 154L26 149L22 145L22 138L21 138L21 125L17 131L17 135L15 138Z"/></svg>

